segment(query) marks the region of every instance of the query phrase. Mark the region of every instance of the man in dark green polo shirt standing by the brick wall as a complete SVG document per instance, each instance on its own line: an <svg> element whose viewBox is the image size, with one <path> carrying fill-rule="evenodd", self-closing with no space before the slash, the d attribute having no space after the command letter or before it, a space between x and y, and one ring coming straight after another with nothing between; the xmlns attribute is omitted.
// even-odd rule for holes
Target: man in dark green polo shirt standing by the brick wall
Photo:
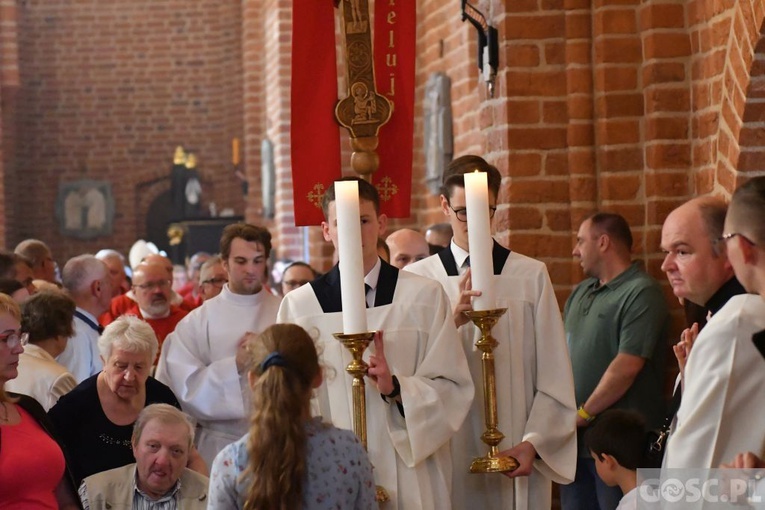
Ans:
<svg viewBox="0 0 765 510"><path fill-rule="evenodd" d="M650 428L664 417L669 313L659 283L632 261L632 232L622 216L600 212L579 227L572 255L587 277L563 316L574 370L578 458L574 482L561 487L564 510L613 510L622 492L596 472L584 433L607 409L639 412Z"/></svg>

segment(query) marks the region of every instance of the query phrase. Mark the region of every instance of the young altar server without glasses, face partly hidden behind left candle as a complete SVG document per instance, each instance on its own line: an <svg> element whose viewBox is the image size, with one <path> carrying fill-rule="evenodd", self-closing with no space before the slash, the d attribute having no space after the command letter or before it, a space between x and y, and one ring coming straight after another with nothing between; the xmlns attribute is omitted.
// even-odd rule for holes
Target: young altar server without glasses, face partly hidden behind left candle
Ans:
<svg viewBox="0 0 765 510"><path fill-rule="evenodd" d="M386 509L448 510L452 508L449 440L470 408L474 391L470 371L451 320L449 298L438 282L400 272L377 255L386 217L379 213L374 186L362 180L358 185L364 282L370 287L368 328L381 331L364 356L369 363L367 437L375 481L390 495ZM337 248L334 184L322 206L324 238ZM332 336L343 332L342 315L336 265L310 285L287 294L278 321L294 322L317 336L323 363L334 375L328 375L317 390L315 404L324 419L350 429L352 379L345 367L352 358Z"/></svg>

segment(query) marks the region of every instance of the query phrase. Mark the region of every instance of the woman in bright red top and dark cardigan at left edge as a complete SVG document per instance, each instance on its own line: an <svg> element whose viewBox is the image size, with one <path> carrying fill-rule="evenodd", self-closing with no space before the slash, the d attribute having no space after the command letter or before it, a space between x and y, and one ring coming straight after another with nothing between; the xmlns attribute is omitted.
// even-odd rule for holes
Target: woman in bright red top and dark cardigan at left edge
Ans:
<svg viewBox="0 0 765 510"><path fill-rule="evenodd" d="M45 411L26 395L5 392L24 351L20 318L18 304L0 294L0 507L76 509L64 454Z"/></svg>

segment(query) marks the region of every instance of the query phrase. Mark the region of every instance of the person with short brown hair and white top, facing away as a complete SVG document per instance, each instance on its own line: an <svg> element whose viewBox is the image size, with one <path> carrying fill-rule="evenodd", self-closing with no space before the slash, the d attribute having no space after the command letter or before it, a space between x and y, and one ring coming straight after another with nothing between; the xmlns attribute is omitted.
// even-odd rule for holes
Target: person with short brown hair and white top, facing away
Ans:
<svg viewBox="0 0 765 510"><path fill-rule="evenodd" d="M19 376L6 388L37 400L47 411L75 386L74 376L56 362L74 330L75 304L61 291L38 292L24 303L21 331L29 337L19 357Z"/></svg>

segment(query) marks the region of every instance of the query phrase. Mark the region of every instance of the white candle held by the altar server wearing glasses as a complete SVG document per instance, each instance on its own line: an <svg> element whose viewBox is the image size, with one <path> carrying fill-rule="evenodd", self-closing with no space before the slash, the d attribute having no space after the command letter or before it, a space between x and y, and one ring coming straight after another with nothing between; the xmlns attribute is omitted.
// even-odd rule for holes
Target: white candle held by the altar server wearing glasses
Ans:
<svg viewBox="0 0 765 510"><path fill-rule="evenodd" d="M472 287L481 295L473 298L473 310L491 310L494 303L494 263L491 252L491 223L489 218L489 187L486 172L465 174L465 207L468 217L470 245L470 274Z"/></svg>

